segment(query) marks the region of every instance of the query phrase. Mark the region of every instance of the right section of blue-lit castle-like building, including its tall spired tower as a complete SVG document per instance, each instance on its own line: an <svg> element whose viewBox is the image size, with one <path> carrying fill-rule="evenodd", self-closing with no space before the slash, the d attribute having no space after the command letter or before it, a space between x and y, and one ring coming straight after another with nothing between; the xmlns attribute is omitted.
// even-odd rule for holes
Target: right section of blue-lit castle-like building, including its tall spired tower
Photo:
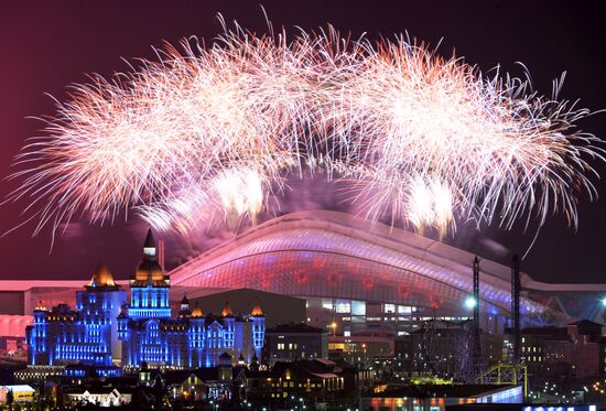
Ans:
<svg viewBox="0 0 606 411"><path fill-rule="evenodd" d="M130 305L123 306L118 316L122 365L214 367L224 353L247 363L261 356L266 317L259 305L249 315L235 315L226 303L220 315L204 315L197 305L190 310L190 301L184 296L178 314L173 317L169 306L170 284L170 278L158 263L150 231L143 245L143 260L130 280Z"/></svg>

